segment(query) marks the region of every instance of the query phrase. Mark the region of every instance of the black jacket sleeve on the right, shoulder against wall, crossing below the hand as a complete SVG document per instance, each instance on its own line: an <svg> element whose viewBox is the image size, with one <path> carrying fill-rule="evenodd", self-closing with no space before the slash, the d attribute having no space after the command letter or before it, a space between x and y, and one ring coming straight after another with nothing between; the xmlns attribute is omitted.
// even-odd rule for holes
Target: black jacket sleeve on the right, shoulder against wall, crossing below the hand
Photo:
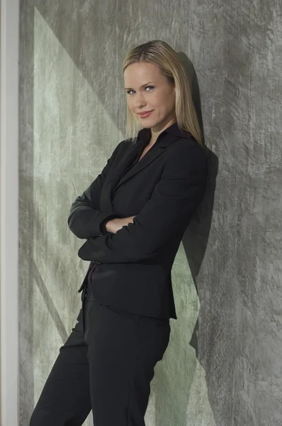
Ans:
<svg viewBox="0 0 282 426"><path fill-rule="evenodd" d="M152 258L174 232L186 229L205 192L205 152L196 141L176 146L164 165L152 197L134 223L115 234L88 239L78 251L85 261L130 263Z"/></svg>

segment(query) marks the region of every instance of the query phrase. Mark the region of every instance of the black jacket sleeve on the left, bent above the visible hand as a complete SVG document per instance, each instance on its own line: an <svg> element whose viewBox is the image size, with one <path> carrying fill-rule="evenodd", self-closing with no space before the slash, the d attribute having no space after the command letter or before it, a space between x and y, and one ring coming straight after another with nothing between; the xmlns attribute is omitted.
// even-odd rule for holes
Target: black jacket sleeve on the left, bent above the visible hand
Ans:
<svg viewBox="0 0 282 426"><path fill-rule="evenodd" d="M121 217L113 212L101 212L100 210L100 194L103 187L103 182L108 175L122 142L115 147L111 158L108 158L107 163L101 173L97 176L94 182L72 203L67 224L69 229L81 239L87 239L90 236L101 235L105 232L104 224L106 221L114 217ZM107 232L107 231L106 231Z"/></svg>

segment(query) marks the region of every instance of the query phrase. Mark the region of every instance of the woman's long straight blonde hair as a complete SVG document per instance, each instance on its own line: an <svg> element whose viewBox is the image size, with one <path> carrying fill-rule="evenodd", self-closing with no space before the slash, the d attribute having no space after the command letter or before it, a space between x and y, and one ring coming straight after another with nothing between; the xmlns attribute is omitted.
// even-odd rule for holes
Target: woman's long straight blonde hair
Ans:
<svg viewBox="0 0 282 426"><path fill-rule="evenodd" d="M179 129L189 131L203 148L203 135L193 103L191 80L176 51L162 40L151 40L130 50L123 61L123 73L134 62L152 62L158 65L167 80L175 84L175 114ZM142 125L127 105L126 137L136 135L140 129Z"/></svg>

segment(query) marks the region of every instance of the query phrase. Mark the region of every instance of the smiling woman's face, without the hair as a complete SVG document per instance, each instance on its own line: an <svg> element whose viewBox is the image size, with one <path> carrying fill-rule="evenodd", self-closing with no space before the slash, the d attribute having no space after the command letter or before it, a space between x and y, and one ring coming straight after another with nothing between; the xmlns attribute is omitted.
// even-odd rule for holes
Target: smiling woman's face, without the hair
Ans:
<svg viewBox="0 0 282 426"><path fill-rule="evenodd" d="M150 62L134 62L125 69L125 94L128 107L142 124L152 131L162 131L176 121L175 86ZM148 116L138 113L152 111Z"/></svg>

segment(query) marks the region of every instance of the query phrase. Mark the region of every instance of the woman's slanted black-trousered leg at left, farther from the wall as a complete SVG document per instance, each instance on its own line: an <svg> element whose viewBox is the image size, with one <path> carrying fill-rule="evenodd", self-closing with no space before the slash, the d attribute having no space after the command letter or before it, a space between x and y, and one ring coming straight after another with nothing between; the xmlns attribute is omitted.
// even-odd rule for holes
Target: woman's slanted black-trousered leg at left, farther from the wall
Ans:
<svg viewBox="0 0 282 426"><path fill-rule="evenodd" d="M87 346L82 310L30 418L30 426L81 426L91 410Z"/></svg>

